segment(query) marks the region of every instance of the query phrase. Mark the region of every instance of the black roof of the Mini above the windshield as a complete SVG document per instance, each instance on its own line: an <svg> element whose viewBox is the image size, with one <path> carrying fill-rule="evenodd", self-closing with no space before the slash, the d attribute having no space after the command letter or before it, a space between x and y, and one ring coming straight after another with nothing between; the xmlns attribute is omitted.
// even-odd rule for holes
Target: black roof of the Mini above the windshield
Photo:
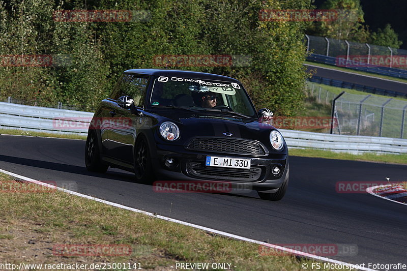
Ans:
<svg viewBox="0 0 407 271"><path fill-rule="evenodd" d="M132 70L127 70L124 73L145 74L145 75L155 75L155 76L195 77L195 78L201 78L201 79L226 80L226 81L239 82L239 80L237 80L235 78L223 76L223 75L219 75L219 74L183 71L183 70L132 69Z"/></svg>

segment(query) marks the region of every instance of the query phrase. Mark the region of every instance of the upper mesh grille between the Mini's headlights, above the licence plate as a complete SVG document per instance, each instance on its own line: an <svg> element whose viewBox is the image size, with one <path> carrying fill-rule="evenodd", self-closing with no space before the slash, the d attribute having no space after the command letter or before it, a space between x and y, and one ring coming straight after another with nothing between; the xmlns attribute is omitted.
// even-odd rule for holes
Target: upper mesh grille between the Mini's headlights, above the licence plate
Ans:
<svg viewBox="0 0 407 271"><path fill-rule="evenodd" d="M263 146L256 142L225 138L195 138L191 141L191 143L189 143L188 149L225 154L266 154Z"/></svg>

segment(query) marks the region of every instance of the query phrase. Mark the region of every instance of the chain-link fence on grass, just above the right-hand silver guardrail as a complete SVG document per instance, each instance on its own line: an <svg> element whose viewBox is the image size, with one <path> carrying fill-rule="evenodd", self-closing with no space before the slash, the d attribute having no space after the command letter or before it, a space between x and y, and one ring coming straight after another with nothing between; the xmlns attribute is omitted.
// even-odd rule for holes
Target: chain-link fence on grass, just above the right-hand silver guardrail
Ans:
<svg viewBox="0 0 407 271"><path fill-rule="evenodd" d="M321 103L338 96L311 82L307 91ZM407 100L345 93L335 103L333 133L407 139L406 111Z"/></svg>

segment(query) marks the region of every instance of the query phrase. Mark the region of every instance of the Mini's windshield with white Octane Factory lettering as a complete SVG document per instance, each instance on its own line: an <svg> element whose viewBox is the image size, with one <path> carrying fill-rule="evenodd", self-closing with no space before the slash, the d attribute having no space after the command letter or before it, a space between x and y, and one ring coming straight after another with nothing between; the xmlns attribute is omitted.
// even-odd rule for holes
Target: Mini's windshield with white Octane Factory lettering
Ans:
<svg viewBox="0 0 407 271"><path fill-rule="evenodd" d="M160 76L154 80L150 104L153 107L189 107L209 111L219 109L221 112L256 117L246 91L236 82Z"/></svg>

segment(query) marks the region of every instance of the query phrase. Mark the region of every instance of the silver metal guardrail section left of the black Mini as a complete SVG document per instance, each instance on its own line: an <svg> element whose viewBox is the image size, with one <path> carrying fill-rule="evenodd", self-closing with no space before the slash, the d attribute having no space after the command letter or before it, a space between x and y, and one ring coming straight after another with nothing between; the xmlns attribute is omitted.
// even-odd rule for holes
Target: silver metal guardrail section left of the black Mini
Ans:
<svg viewBox="0 0 407 271"><path fill-rule="evenodd" d="M88 135L93 113L0 102L0 129Z"/></svg>

